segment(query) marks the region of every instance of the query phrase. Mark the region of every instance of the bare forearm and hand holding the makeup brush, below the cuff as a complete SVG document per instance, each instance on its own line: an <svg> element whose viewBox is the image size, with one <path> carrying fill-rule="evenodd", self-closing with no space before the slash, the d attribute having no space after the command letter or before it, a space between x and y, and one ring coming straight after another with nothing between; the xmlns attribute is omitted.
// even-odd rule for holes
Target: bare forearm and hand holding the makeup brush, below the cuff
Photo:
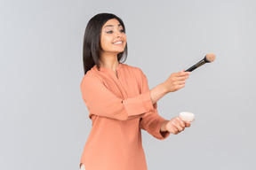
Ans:
<svg viewBox="0 0 256 170"><path fill-rule="evenodd" d="M179 73L172 73L171 76L163 83L150 89L152 104L155 104L160 98L164 97L169 92L174 92L185 87L186 80L190 72L182 70Z"/></svg>

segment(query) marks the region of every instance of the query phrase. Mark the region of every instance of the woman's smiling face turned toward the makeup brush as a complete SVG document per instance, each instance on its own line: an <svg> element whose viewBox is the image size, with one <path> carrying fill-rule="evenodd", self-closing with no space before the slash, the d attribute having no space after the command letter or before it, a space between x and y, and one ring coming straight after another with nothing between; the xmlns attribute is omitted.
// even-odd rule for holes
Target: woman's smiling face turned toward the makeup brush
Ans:
<svg viewBox="0 0 256 170"><path fill-rule="evenodd" d="M117 19L109 19L101 29L100 46L101 54L118 54L124 51L126 35Z"/></svg>

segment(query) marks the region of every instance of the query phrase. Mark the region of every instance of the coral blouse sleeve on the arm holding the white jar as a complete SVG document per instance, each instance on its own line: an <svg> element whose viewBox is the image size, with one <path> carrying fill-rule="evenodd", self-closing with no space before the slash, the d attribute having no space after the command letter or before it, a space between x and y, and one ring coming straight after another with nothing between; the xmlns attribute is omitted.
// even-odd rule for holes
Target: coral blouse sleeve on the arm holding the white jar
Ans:
<svg viewBox="0 0 256 170"><path fill-rule="evenodd" d="M148 88L148 80L144 73L142 73L142 93L147 93L149 91ZM158 115L157 112L157 104L154 104L154 110L146 112L140 118L140 128L146 130L148 134L153 135L157 139L163 140L170 135L168 131L161 132L161 126L164 123L165 119Z"/></svg>

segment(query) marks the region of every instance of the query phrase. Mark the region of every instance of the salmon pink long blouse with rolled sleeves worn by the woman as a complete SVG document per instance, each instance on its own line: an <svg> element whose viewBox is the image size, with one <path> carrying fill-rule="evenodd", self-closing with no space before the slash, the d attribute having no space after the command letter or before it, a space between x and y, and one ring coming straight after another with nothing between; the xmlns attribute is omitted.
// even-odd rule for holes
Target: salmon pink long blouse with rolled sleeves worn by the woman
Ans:
<svg viewBox="0 0 256 170"><path fill-rule="evenodd" d="M81 91L92 120L81 157L85 170L147 170L141 129L157 139L164 118L152 104L148 80L140 68L119 63L116 73L93 66L81 81Z"/></svg>

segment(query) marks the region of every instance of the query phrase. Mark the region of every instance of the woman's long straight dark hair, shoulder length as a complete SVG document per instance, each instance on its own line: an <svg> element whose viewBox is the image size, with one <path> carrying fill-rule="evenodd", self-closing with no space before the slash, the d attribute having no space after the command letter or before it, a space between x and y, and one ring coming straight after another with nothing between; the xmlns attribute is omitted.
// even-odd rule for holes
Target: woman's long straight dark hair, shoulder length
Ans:
<svg viewBox="0 0 256 170"><path fill-rule="evenodd" d="M100 34L101 28L109 19L117 19L124 29L124 22L112 13L99 13L89 20L84 32L83 45L83 62L84 74L87 73L94 65L100 69ZM124 56L124 61L127 58L127 43L123 52L117 55L117 60L120 61ZM123 62L124 62L123 61Z"/></svg>

